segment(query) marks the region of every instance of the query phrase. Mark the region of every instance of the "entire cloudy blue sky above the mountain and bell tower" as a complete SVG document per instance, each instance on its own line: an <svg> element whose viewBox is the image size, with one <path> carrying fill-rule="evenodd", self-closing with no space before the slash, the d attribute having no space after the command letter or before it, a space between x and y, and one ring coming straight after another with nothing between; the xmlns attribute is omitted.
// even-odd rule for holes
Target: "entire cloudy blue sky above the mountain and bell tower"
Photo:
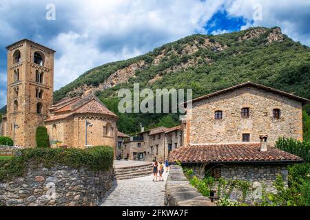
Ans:
<svg viewBox="0 0 310 220"><path fill-rule="evenodd" d="M0 107L6 104L5 47L21 39L56 50L54 89L59 89L92 67L195 33L280 26L309 46L309 22L309 0L1 0Z"/></svg>

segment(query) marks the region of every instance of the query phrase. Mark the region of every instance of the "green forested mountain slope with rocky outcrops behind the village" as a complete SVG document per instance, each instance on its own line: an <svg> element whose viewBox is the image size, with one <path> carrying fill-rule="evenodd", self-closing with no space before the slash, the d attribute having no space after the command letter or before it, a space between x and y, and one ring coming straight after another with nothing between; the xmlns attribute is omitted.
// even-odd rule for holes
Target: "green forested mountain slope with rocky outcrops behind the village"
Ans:
<svg viewBox="0 0 310 220"><path fill-rule="evenodd" d="M117 91L140 83L141 89L192 88L194 98L251 80L310 98L310 50L281 33L280 28L249 28L207 36L194 34L153 52L96 67L56 91L55 100L96 95L120 116L126 133L138 124L174 126L176 114L121 114Z"/></svg>

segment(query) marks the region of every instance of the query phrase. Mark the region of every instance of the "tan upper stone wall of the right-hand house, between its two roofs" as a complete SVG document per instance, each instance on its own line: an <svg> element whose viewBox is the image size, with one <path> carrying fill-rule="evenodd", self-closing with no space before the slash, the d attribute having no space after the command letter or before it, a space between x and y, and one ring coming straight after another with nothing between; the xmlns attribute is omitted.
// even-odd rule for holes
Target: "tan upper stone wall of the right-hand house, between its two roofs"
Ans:
<svg viewBox="0 0 310 220"><path fill-rule="evenodd" d="M241 117L245 107L249 118ZM280 109L280 119L273 118L273 109ZM223 111L223 119L215 120L215 111ZM241 142L242 133L250 134L250 142L260 142L259 135L268 134L271 146L282 136L302 140L301 102L254 87L194 102L192 118L187 122L191 143Z"/></svg>

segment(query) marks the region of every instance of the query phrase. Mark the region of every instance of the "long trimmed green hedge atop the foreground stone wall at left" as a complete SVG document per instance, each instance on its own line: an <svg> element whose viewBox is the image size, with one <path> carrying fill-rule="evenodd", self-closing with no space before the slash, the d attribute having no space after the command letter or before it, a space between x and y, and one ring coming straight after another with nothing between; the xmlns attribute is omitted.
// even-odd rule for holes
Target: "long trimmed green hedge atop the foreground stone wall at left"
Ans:
<svg viewBox="0 0 310 220"><path fill-rule="evenodd" d="M25 148L17 151L11 159L0 160L0 181L22 176L28 166L56 164L72 168L85 167L90 170L110 170L114 151L110 146L78 148Z"/></svg>

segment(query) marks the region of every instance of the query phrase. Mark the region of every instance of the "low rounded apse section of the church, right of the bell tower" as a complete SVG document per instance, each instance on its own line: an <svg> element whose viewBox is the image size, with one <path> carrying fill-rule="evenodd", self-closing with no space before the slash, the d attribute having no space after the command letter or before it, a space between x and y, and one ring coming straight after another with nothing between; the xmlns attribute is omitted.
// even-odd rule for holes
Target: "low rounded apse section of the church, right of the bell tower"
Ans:
<svg viewBox="0 0 310 220"><path fill-rule="evenodd" d="M44 121L53 147L116 146L117 116L96 96L65 99L50 108ZM87 126L86 126L87 123ZM86 131L87 127L87 131Z"/></svg>

